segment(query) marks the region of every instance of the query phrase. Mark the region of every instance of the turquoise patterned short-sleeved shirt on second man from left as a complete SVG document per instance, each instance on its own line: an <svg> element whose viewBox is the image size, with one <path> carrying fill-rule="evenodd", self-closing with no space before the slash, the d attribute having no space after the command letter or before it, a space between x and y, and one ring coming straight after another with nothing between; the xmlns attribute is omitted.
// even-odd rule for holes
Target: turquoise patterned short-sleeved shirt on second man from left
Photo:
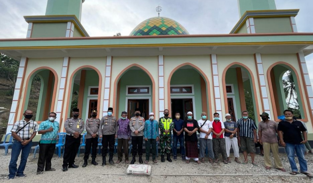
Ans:
<svg viewBox="0 0 313 183"><path fill-rule="evenodd" d="M49 120L43 121L40 123L38 131L48 130L50 127L53 128L53 131L48 131L45 134L41 135L40 144L56 144L57 136L59 132L59 122L51 122Z"/></svg>

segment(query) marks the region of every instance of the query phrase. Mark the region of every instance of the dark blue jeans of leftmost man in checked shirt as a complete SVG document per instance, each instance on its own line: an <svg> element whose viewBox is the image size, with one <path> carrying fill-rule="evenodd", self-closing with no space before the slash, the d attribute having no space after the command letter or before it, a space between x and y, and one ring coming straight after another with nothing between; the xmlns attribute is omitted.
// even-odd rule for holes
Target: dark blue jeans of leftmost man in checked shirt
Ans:
<svg viewBox="0 0 313 183"><path fill-rule="evenodd" d="M11 161L9 164L9 177L15 177L16 175L22 175L25 170L25 166L27 163L27 158L32 148L32 141L30 141L25 146L22 145L20 141L14 140L12 145L12 153L11 153ZM18 156L21 155L21 162L17 168Z"/></svg>

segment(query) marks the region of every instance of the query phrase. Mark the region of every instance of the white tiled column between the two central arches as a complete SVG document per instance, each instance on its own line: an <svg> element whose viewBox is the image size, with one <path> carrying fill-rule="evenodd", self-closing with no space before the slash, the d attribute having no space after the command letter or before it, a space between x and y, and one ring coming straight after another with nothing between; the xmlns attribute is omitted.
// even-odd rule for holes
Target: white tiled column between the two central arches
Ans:
<svg viewBox="0 0 313 183"><path fill-rule="evenodd" d="M159 55L159 117L164 116L164 57ZM167 100L170 100L169 98Z"/></svg>

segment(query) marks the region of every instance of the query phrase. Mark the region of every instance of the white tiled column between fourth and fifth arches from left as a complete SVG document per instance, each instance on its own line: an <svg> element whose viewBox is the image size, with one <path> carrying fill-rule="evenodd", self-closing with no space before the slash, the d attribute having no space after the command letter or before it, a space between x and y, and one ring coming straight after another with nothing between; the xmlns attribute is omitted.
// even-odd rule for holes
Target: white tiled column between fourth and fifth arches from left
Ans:
<svg viewBox="0 0 313 183"><path fill-rule="evenodd" d="M219 113L220 121L223 121L222 102L221 102L221 93L220 93L220 89L219 89L220 85L219 85L216 54L211 54L211 64L212 64L212 77L213 77L213 86L214 86L215 111L217 113ZM208 97L210 97L210 96L208 96Z"/></svg>

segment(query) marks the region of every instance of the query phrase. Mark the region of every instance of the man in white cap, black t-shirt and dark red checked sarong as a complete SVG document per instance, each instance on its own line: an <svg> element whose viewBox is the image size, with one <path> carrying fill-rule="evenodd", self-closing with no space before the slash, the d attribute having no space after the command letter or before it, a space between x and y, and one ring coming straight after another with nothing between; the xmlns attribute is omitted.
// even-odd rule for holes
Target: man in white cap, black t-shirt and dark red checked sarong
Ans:
<svg viewBox="0 0 313 183"><path fill-rule="evenodd" d="M192 119L192 112L187 112L187 119L184 121L184 131L185 131L185 146L186 146L186 163L190 163L192 158L198 164L199 161L199 151L198 151L198 137L197 130L199 129L198 121Z"/></svg>

